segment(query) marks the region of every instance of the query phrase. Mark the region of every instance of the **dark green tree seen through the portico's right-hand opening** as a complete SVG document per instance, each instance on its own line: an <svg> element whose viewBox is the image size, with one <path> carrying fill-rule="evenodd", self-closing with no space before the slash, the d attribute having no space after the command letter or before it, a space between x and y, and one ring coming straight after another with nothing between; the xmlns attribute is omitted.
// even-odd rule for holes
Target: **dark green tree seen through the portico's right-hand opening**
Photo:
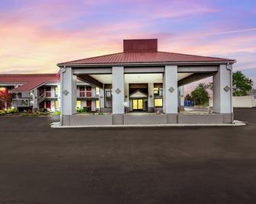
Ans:
<svg viewBox="0 0 256 204"><path fill-rule="evenodd" d="M191 97L196 105L203 105L209 102L209 93L206 90L206 84L199 84L194 91L191 92Z"/></svg>

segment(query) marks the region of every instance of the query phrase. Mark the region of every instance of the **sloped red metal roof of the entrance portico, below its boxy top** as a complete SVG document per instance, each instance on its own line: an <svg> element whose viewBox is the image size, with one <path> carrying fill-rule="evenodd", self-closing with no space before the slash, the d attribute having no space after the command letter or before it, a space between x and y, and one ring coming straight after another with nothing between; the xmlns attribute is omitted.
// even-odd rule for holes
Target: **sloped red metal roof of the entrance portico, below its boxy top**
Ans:
<svg viewBox="0 0 256 204"><path fill-rule="evenodd" d="M151 52L151 53L114 53L61 62L57 65L86 65L86 64L120 64L120 63L160 63L160 62L235 62L235 59L223 59L209 56L193 56L180 53Z"/></svg>

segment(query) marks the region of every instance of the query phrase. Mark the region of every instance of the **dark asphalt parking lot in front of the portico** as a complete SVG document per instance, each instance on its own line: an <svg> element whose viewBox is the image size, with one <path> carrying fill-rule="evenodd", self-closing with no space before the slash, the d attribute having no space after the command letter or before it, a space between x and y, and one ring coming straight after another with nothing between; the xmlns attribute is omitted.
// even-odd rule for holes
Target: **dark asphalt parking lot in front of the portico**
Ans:
<svg viewBox="0 0 256 204"><path fill-rule="evenodd" d="M256 109L240 127L50 129L0 117L0 203L256 203Z"/></svg>

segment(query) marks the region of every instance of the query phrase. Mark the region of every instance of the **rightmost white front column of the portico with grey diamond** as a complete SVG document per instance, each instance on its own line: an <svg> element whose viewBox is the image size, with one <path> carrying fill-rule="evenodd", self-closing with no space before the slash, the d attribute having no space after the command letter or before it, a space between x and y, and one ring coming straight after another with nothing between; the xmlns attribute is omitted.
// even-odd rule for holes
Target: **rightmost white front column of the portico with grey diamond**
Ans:
<svg viewBox="0 0 256 204"><path fill-rule="evenodd" d="M232 120L232 65L219 65L219 72L213 75L213 112L226 114L224 122L228 114Z"/></svg>

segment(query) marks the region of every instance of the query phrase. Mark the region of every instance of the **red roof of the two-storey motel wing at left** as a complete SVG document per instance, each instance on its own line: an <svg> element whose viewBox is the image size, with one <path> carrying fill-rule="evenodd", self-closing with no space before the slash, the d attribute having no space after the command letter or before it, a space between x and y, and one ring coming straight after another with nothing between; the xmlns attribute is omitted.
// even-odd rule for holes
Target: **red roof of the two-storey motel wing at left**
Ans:
<svg viewBox="0 0 256 204"><path fill-rule="evenodd" d="M57 74L31 74L31 75L0 75L0 83L23 84L11 91L22 92L31 91L45 83L59 82L60 78Z"/></svg>

